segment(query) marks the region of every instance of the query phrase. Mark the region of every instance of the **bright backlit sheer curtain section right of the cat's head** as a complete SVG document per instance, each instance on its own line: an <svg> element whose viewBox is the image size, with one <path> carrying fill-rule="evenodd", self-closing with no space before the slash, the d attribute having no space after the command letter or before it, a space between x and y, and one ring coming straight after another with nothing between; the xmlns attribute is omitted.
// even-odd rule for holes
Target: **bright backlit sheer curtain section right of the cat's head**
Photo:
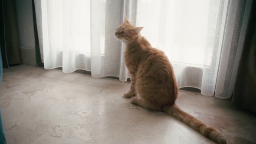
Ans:
<svg viewBox="0 0 256 144"><path fill-rule="evenodd" d="M180 88L214 94L227 2L138 0L136 22L144 26L141 34L166 53Z"/></svg>

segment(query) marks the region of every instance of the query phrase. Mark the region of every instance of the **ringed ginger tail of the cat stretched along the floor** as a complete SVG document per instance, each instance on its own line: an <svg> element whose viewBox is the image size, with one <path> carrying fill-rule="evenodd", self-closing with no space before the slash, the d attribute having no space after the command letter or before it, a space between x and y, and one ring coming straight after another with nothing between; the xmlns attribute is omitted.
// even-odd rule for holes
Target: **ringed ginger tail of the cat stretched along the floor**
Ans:
<svg viewBox="0 0 256 144"><path fill-rule="evenodd" d="M177 105L174 104L171 106L166 106L164 108L164 112L184 122L190 128L193 128L205 137L210 138L212 141L215 141L218 144L226 144L226 139L222 133L207 126L202 121L197 120L197 118L181 110L181 108L179 108Z"/></svg>

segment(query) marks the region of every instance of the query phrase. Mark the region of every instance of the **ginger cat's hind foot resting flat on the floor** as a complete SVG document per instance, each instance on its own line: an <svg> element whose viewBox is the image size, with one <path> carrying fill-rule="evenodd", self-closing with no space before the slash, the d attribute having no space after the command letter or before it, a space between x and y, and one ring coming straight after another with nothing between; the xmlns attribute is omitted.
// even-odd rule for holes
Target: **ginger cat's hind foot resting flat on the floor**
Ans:
<svg viewBox="0 0 256 144"><path fill-rule="evenodd" d="M133 97L133 98L131 98L131 103L133 103L135 105L139 105L139 106L149 109L151 111L162 111L162 108L160 106L154 105L153 103L151 103L145 99Z"/></svg>

